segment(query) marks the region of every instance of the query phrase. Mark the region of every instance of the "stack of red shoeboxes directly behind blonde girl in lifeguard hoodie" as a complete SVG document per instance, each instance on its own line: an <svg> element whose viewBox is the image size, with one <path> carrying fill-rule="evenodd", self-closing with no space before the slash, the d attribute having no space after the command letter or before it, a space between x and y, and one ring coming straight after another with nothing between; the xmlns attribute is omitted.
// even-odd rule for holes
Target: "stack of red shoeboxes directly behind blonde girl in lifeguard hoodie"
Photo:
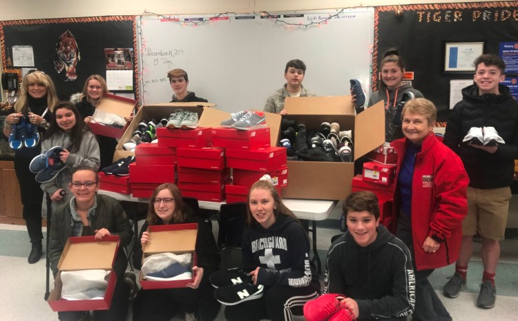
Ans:
<svg viewBox="0 0 518 321"><path fill-rule="evenodd" d="M213 128L212 143L227 152L233 183L225 186L227 203L247 202L253 183L269 174L279 194L287 186L286 148L270 146L270 129Z"/></svg>

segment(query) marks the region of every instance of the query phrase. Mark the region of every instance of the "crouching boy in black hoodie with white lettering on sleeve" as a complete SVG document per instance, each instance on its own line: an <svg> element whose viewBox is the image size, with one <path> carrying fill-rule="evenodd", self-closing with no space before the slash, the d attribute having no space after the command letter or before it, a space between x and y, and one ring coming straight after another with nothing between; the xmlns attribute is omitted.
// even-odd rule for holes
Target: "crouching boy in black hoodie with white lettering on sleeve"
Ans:
<svg viewBox="0 0 518 321"><path fill-rule="evenodd" d="M323 293L343 294L341 305L358 321L406 320L415 301L410 251L379 225L378 198L372 192L350 194L343 211L348 230L329 248Z"/></svg>

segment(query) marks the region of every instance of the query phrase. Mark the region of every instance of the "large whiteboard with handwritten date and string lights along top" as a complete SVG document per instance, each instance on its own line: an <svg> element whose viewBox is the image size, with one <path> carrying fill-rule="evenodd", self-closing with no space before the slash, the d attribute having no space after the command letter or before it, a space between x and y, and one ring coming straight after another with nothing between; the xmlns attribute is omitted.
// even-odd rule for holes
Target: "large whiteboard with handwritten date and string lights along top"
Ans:
<svg viewBox="0 0 518 321"><path fill-rule="evenodd" d="M349 79L370 83L373 8L269 13L296 24L339 14L320 27L287 25L261 14L228 14L229 19L196 26L182 21L215 15L137 17L140 103L171 101L167 72L174 68L188 73L189 91L226 112L262 110L268 96L286 83L291 59L305 62L303 85L318 96L349 94ZM242 16L252 19L236 19Z"/></svg>

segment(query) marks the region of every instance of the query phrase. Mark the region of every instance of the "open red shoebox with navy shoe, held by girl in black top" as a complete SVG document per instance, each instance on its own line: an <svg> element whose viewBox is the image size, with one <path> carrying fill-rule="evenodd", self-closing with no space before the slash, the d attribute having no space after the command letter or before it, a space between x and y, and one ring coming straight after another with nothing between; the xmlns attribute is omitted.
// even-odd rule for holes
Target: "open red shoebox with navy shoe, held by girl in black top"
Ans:
<svg viewBox="0 0 518 321"><path fill-rule="evenodd" d="M148 227L149 240L142 248L144 258L153 254L171 252L175 254L192 254L191 271L194 266L198 264L198 258L195 252L196 237L198 236L198 224L169 224L169 225L151 225ZM186 287L186 284L194 281L193 278L186 280L173 281L152 281L144 280L142 271L139 276L140 285L142 289L171 289L178 287Z"/></svg>

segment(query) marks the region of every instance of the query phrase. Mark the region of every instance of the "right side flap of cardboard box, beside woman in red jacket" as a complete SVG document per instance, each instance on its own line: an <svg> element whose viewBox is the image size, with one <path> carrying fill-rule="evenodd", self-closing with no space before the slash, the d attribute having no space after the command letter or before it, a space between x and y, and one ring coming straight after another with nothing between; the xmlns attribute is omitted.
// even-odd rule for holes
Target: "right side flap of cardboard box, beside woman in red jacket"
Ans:
<svg viewBox="0 0 518 321"><path fill-rule="evenodd" d="M385 109L380 101L354 118L354 161L384 142Z"/></svg>

